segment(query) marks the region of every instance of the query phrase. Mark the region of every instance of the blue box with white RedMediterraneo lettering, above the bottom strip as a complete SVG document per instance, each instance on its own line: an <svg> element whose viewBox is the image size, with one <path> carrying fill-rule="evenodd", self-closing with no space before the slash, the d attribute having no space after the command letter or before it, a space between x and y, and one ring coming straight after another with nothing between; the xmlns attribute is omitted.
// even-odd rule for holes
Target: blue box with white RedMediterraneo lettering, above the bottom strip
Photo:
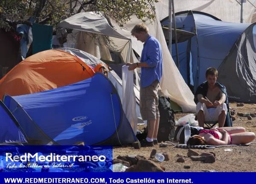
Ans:
<svg viewBox="0 0 256 184"><path fill-rule="evenodd" d="M112 147L1 146L2 172L112 172Z"/></svg>

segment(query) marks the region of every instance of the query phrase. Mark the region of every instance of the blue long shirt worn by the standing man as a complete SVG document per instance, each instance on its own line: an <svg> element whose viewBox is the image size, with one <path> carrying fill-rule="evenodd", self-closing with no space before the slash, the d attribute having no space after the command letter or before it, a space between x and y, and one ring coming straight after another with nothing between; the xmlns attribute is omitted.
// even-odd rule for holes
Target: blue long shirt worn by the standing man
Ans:
<svg viewBox="0 0 256 184"><path fill-rule="evenodd" d="M141 67L140 87L148 87L155 80L160 82L163 75L163 56L161 45L155 37L149 36L145 41L140 62L150 66Z"/></svg>

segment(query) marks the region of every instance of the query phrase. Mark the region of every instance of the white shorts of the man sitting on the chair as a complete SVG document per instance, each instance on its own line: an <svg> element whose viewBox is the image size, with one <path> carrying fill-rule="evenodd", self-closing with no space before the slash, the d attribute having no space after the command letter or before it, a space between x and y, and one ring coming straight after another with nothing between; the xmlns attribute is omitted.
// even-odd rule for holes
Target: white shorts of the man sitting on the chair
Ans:
<svg viewBox="0 0 256 184"><path fill-rule="evenodd" d="M196 104L196 113L202 110L204 112L204 121L218 121L218 116L221 114L221 111L225 111L227 115L227 104L223 103L217 107L207 108L204 103L198 102Z"/></svg>

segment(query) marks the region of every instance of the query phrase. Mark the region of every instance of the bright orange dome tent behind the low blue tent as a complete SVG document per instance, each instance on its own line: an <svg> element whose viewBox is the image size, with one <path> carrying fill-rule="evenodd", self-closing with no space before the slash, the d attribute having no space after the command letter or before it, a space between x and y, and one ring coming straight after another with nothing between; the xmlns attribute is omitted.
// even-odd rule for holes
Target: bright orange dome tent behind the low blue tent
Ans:
<svg viewBox="0 0 256 184"><path fill-rule="evenodd" d="M61 50L47 50L26 58L0 80L0 98L55 89L92 77L93 69Z"/></svg>

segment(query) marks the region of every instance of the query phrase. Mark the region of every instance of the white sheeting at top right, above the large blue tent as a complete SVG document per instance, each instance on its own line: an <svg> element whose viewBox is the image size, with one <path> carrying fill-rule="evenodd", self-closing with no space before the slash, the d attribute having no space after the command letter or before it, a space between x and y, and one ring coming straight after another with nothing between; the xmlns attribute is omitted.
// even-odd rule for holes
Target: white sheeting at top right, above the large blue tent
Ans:
<svg viewBox="0 0 256 184"><path fill-rule="evenodd" d="M163 20L168 16L169 0L158 0L156 3L157 16ZM239 0L237 0L239 1ZM241 6L236 0L174 0L175 13L179 11L194 10L211 14L222 21L240 23ZM256 6L256 0L250 0ZM247 0L243 3L244 23L256 21L256 9Z"/></svg>

